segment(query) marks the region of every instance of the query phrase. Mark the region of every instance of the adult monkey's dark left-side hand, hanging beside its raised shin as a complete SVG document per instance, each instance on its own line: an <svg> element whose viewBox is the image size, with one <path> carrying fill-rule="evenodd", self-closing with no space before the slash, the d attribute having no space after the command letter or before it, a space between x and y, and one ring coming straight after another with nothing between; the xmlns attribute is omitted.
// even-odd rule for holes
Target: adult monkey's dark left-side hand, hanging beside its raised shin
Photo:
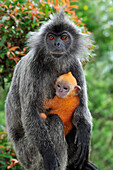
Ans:
<svg viewBox="0 0 113 170"><path fill-rule="evenodd" d="M58 170L59 161L53 149L48 149L43 155L45 170Z"/></svg>

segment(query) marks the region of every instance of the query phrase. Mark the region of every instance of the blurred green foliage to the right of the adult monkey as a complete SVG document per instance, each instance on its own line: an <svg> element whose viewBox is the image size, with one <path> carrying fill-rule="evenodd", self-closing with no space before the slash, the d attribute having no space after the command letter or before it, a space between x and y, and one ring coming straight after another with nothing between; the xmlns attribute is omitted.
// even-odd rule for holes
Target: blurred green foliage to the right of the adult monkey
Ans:
<svg viewBox="0 0 113 170"><path fill-rule="evenodd" d="M102 170L113 169L113 2L79 1L76 14L95 39L96 57L85 70L89 108L93 115L91 160Z"/></svg>

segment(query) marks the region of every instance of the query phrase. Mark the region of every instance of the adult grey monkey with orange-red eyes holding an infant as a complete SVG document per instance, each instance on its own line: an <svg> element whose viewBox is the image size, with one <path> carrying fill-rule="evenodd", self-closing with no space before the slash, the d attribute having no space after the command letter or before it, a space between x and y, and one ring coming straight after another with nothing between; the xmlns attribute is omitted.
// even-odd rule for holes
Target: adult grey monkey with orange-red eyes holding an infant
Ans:
<svg viewBox="0 0 113 170"><path fill-rule="evenodd" d="M16 155L27 170L96 169L88 160L92 118L79 57L85 41L62 12L53 16L29 39L29 53L16 65L6 100L6 124ZM57 115L45 123L43 99L53 98L56 77L71 71L81 86L73 128L64 137ZM68 161L67 161L68 155Z"/></svg>

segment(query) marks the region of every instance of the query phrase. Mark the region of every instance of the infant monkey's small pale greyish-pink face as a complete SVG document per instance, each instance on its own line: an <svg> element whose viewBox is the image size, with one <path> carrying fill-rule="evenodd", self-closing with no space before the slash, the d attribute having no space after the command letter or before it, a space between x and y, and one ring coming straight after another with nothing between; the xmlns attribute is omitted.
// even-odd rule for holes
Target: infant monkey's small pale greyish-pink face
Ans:
<svg viewBox="0 0 113 170"><path fill-rule="evenodd" d="M58 97L60 98L66 97L69 92L70 92L69 85L66 85L60 82L56 84L56 95Z"/></svg>

